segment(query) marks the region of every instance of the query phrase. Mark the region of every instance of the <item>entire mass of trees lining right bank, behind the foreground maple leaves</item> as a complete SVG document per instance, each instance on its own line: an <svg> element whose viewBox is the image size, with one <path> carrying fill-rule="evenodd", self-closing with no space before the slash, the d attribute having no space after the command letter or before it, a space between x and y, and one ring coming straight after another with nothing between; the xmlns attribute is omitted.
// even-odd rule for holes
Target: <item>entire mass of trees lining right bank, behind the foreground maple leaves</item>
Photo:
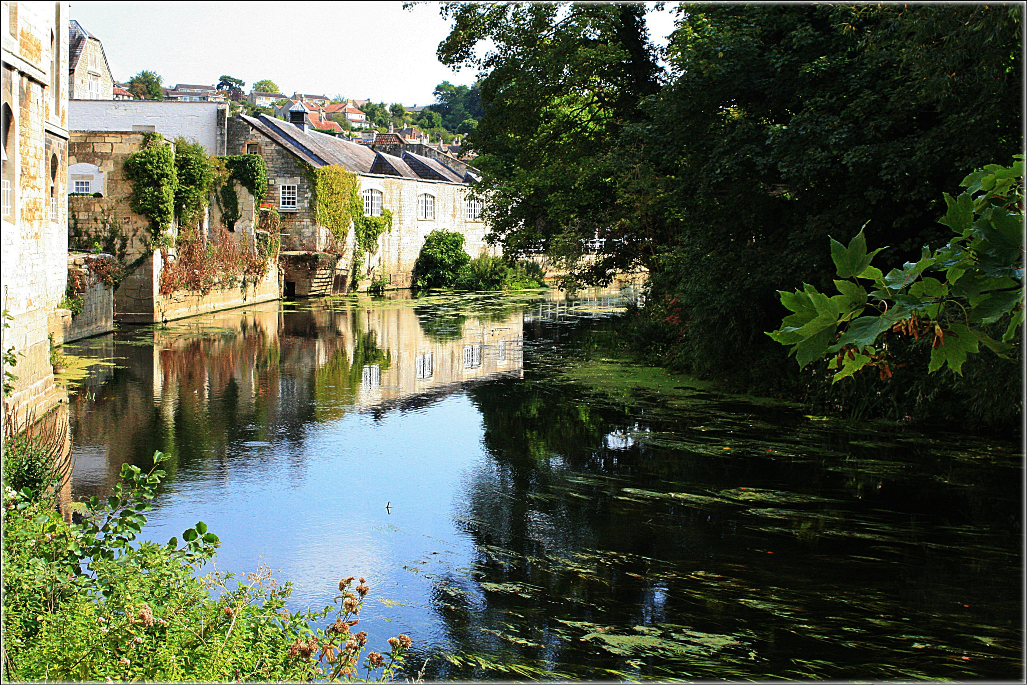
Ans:
<svg viewBox="0 0 1027 685"><path fill-rule="evenodd" d="M504 253L543 246L566 287L648 269L625 346L724 389L854 417L1019 425L1019 327L1009 359L974 355L961 375L892 365L844 383L826 359L800 371L764 332L789 313L778 290L832 286L829 236L848 244L863 230L887 245L878 263L916 264L949 240L944 193L1012 163L1022 8L688 5L662 53L645 11L443 6L454 28L440 60L480 71L485 115L465 144ZM986 327L1010 322L981 330L996 338Z"/></svg>

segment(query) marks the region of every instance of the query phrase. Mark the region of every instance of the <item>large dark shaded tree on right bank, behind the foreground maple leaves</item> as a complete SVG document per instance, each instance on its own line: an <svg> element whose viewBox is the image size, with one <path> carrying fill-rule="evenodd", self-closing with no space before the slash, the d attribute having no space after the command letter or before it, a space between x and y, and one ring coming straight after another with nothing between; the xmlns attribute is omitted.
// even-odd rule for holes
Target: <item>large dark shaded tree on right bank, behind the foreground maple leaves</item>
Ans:
<svg viewBox="0 0 1027 685"><path fill-rule="evenodd" d="M916 262L948 239L943 191L1019 151L1019 8L686 10L676 77L633 131L676 229L653 313L675 322L681 367L791 392L800 377L762 332L778 288L831 284L828 235L869 221L883 259Z"/></svg>

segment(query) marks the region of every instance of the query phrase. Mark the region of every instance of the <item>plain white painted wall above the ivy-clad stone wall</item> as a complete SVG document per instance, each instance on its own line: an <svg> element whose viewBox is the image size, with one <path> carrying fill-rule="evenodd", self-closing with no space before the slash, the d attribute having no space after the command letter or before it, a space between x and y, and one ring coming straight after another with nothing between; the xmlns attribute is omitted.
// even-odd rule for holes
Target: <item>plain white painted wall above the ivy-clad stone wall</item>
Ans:
<svg viewBox="0 0 1027 685"><path fill-rule="evenodd" d="M202 145L208 154L225 154L225 105L220 106L221 112L218 103L160 100L72 100L68 105L70 130L137 130L135 126L153 126L169 141L182 136Z"/></svg>

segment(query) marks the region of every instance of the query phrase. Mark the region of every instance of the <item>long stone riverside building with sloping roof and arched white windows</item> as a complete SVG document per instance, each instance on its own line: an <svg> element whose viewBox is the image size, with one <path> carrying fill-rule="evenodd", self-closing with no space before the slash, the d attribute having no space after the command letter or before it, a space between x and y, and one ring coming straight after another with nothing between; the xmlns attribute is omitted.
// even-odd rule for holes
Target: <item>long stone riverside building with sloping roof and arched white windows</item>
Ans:
<svg viewBox="0 0 1027 685"><path fill-rule="evenodd" d="M434 157L406 150L400 155L310 130L303 113L298 123L267 116L238 115L228 121L228 153L260 154L268 168L267 201L281 215L282 250L294 253L327 252L353 261L354 239L350 231L339 244L332 232L318 225L312 203L313 190L304 164L313 167L338 165L357 175L365 213L392 213L392 228L378 239L378 250L363 255L367 271L349 274L360 278L387 278L392 288L409 288L414 262L433 230L456 231L464 236L464 250L471 257L492 254L485 241L488 226L482 220L481 202L468 196L473 173L461 164L459 170ZM456 160L454 160L456 161ZM315 278L316 274L311 278ZM292 286L290 286L292 283ZM303 294L306 286L291 280L286 292Z"/></svg>

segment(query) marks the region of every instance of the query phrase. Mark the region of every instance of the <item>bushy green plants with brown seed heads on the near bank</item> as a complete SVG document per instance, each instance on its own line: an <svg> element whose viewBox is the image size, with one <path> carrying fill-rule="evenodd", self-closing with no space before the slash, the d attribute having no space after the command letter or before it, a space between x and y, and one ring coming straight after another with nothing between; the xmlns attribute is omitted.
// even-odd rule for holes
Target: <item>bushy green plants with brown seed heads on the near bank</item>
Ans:
<svg viewBox="0 0 1027 685"><path fill-rule="evenodd" d="M72 503L68 522L55 506L62 444L53 431L5 444L4 682L388 681L402 668L410 638L364 655L367 633L350 630L364 578L340 580L322 610L292 613L292 584L267 567L199 574L220 544L202 522L181 547L139 541L164 478L160 452L148 472L124 464L106 500Z"/></svg>

